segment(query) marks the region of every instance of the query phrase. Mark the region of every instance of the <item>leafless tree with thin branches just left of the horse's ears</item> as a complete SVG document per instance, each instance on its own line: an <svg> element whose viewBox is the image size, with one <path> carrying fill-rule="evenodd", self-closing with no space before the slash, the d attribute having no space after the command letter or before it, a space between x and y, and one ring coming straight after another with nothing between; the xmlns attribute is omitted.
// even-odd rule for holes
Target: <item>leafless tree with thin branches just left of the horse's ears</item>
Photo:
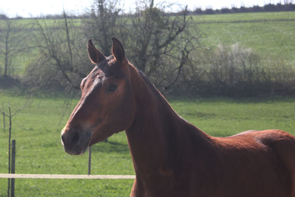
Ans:
<svg viewBox="0 0 295 197"><path fill-rule="evenodd" d="M27 68L25 82L34 87L79 89L91 64L87 64L87 51L79 21L34 20L31 33L35 47L39 51L34 64Z"/></svg>

